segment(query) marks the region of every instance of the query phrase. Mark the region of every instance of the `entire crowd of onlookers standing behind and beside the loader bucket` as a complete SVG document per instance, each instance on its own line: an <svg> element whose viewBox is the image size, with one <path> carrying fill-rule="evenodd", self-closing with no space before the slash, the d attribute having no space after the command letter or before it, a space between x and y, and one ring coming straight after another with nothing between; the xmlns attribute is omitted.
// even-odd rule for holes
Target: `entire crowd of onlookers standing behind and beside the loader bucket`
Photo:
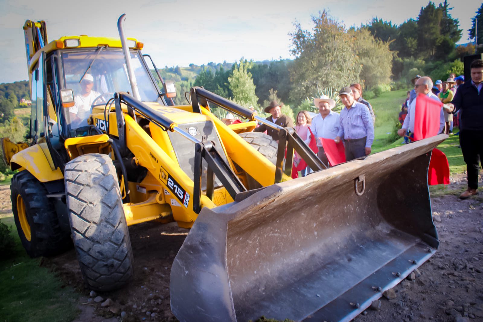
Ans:
<svg viewBox="0 0 483 322"><path fill-rule="evenodd" d="M409 143L413 140L417 96L426 95L444 104L440 117L435 120L439 122L438 133L448 134L453 131L453 127L459 128L456 134L459 134L463 159L467 164L468 190L461 193L461 199L478 193L478 174L483 158L483 95L480 95L483 87L483 60L474 60L470 71L471 81L466 83L463 75L456 77L450 74L446 81L437 80L434 84L430 77L416 75L412 79L414 88L407 92L407 99L399 113L401 129L398 135L404 137L403 143ZM362 98L360 84L341 88L339 97L344 105L340 114L332 111L335 101L322 95L313 100L319 113L312 118L308 111L298 112L295 126L290 117L282 114L283 103L277 101L270 102L265 108L265 112L270 114L266 119L282 127L293 127L307 145L315 139L317 156L328 166L330 162L322 138L333 140L336 144L343 142L346 161L363 158L371 153L374 141L374 111L370 103ZM228 122L231 117L227 116ZM278 130L265 124L254 131L266 132L274 140L279 140ZM296 153L294 166L300 161ZM311 171L307 166L301 170L301 175L306 176Z"/></svg>

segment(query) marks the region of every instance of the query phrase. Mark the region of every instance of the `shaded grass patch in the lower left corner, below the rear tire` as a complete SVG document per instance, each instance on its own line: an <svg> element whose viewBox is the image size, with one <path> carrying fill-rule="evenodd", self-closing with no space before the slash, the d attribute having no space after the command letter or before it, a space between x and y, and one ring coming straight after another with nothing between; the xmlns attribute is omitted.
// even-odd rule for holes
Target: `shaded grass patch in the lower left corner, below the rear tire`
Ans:
<svg viewBox="0 0 483 322"><path fill-rule="evenodd" d="M0 258L0 321L65 322L78 314L79 297L45 267L31 259L23 249L12 216L0 222L12 226L13 255Z"/></svg>

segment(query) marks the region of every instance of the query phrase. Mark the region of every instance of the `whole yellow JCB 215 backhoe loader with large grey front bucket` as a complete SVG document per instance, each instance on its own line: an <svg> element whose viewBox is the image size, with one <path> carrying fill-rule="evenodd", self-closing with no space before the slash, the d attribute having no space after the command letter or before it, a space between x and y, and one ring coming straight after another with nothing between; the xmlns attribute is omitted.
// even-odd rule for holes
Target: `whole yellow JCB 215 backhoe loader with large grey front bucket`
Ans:
<svg viewBox="0 0 483 322"><path fill-rule="evenodd" d="M245 322L351 320L434 254L427 168L445 135L326 168L293 129L203 88L174 105L124 20L120 39L51 42L43 21L25 23L30 142L2 147L30 256L72 240L87 286L114 290L133 275L128 226L176 221L191 230L171 268L174 315ZM290 178L294 150L313 174Z"/></svg>

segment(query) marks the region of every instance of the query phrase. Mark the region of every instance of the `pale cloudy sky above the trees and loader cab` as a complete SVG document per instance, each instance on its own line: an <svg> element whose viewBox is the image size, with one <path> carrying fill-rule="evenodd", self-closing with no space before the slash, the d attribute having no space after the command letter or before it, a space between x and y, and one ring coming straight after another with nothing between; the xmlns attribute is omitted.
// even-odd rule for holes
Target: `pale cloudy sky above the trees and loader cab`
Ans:
<svg viewBox="0 0 483 322"><path fill-rule="evenodd" d="M440 1L435 1L439 4ZM244 59L293 59L294 22L311 29L311 16L327 10L346 27L373 17L401 24L416 18L428 0L0 0L0 83L28 79L22 27L44 20L48 40L61 36L116 37L126 14L126 36L144 44L158 68ZM468 42L471 18L482 2L449 0Z"/></svg>

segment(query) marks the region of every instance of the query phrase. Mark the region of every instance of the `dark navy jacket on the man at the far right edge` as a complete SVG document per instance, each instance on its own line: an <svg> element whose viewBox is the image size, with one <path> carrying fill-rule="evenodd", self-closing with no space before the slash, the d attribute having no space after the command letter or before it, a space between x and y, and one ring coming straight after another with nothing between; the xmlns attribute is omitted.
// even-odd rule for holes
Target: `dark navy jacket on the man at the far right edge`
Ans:
<svg viewBox="0 0 483 322"><path fill-rule="evenodd" d="M461 84L451 101L460 111L460 130L483 131L483 87L478 93L471 81Z"/></svg>

